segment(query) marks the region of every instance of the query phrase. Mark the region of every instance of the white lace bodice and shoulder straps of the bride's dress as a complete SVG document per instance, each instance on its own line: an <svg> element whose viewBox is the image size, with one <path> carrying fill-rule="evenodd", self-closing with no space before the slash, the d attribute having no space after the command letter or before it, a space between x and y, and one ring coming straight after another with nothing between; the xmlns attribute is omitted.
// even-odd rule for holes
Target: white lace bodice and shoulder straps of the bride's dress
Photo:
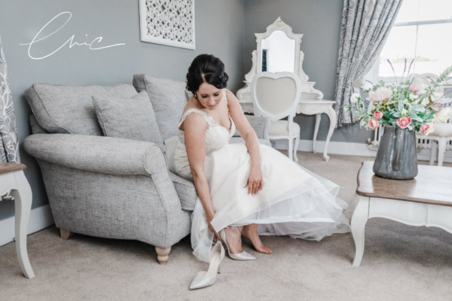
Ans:
<svg viewBox="0 0 452 301"><path fill-rule="evenodd" d="M227 105L225 89L222 89L222 100L225 100ZM234 136L235 133L234 120L232 120L232 117L229 112L228 112L229 119L231 121L231 129L229 131L225 128L225 126L222 126L214 122L213 117L207 116L206 112L195 108L186 110L186 112L182 115L181 121L179 122L179 126L181 126L186 117L193 112L203 115L203 117L206 119L206 122L208 123L208 129L206 131L206 154L210 153L211 151L215 151L219 148L222 148L223 146L229 143L230 138ZM182 129L179 129L177 136L179 137L179 141L185 145L184 131Z"/></svg>

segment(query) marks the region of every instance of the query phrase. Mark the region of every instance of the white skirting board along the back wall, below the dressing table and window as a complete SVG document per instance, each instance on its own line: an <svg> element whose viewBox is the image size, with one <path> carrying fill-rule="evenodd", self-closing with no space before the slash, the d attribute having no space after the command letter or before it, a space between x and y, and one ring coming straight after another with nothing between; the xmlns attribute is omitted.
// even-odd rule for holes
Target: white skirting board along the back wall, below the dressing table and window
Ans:
<svg viewBox="0 0 452 301"><path fill-rule="evenodd" d="M273 141L272 141L273 142ZM278 150L287 151L287 140L276 140L275 148ZM323 146L325 141L316 141L316 153L323 153ZM312 153L312 140L300 140L298 144L298 151L307 151ZM337 142L330 141L328 144L328 153L335 155L364 155L375 157L376 151L369 150L367 143L351 143L351 142ZM419 148L417 149L417 160L430 160L430 150ZM452 152L446 151L444 155L444 162L452 162ZM435 163L437 164L437 163Z"/></svg>

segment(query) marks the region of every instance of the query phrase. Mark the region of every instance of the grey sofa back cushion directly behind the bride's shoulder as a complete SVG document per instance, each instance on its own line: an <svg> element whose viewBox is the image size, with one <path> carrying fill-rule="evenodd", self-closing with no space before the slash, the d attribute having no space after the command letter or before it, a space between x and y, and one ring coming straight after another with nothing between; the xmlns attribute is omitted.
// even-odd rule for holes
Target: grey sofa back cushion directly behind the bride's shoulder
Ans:
<svg viewBox="0 0 452 301"><path fill-rule="evenodd" d="M189 97L185 90L186 84L183 81L135 74L133 85L138 93L143 90L148 92L163 141L177 135L177 126Z"/></svg>

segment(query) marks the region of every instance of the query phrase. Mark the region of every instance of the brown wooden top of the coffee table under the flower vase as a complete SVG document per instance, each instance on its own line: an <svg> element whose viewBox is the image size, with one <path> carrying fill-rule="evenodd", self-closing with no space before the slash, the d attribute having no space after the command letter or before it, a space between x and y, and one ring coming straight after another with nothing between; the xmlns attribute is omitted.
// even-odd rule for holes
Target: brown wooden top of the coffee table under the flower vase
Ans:
<svg viewBox="0 0 452 301"><path fill-rule="evenodd" d="M452 167L418 165L414 179L384 179L372 167L374 161L362 163L357 195L452 206Z"/></svg>

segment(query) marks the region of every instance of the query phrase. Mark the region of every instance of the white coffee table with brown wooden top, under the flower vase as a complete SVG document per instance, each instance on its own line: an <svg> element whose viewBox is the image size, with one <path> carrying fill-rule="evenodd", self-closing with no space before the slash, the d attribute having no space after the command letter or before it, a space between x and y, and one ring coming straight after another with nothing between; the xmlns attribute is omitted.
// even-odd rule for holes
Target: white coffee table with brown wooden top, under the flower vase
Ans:
<svg viewBox="0 0 452 301"><path fill-rule="evenodd" d="M374 161L358 172L352 235L359 266L364 253L364 228L369 218L388 218L413 226L438 227L452 233L452 168L419 165L415 179L383 179L374 175Z"/></svg>

